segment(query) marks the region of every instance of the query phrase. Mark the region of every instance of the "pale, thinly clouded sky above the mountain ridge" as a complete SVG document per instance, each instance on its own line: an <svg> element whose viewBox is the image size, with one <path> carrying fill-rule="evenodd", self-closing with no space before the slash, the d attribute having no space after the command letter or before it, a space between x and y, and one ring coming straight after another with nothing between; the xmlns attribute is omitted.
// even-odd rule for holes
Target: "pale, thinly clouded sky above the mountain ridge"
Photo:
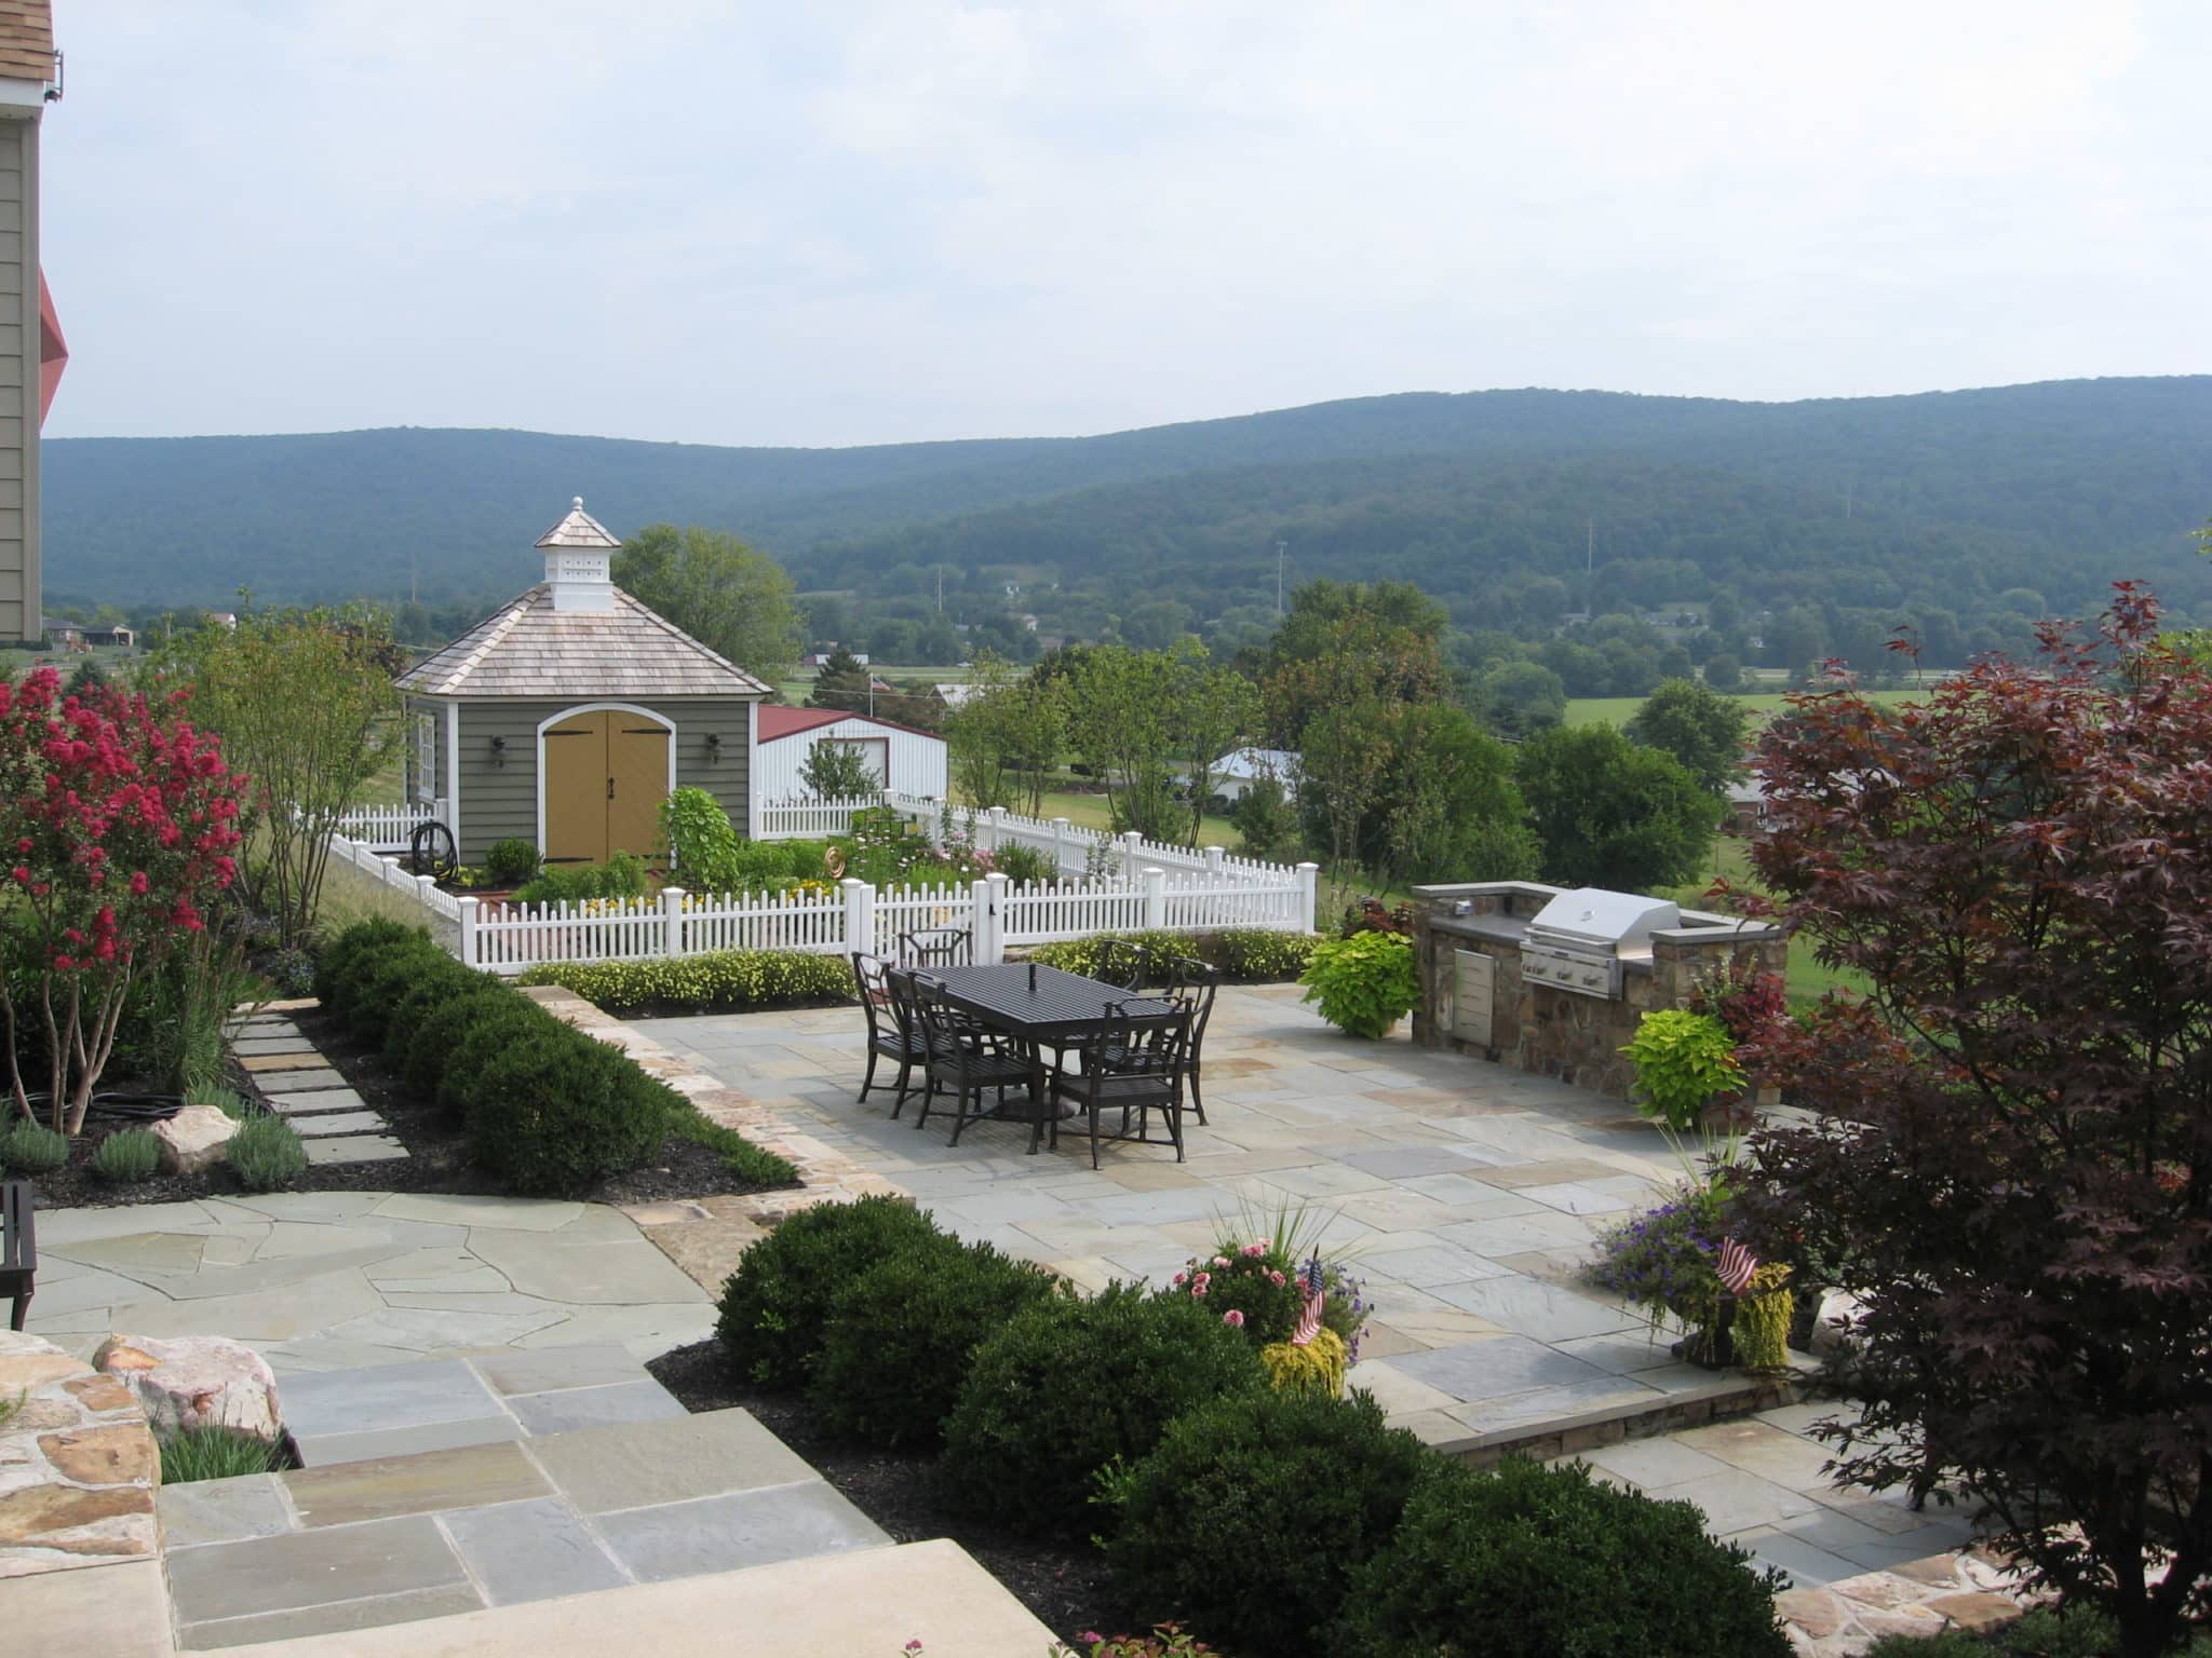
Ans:
<svg viewBox="0 0 2212 1658"><path fill-rule="evenodd" d="M2212 371L2212 7L55 0L46 436Z"/></svg>

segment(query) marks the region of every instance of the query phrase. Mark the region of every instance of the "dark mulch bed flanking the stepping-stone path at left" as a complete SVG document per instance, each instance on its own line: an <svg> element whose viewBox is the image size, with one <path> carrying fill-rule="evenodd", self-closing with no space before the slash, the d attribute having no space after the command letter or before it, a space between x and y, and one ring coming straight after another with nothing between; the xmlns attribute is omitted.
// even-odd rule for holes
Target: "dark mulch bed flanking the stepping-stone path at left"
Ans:
<svg viewBox="0 0 2212 1658"><path fill-rule="evenodd" d="M345 1077L369 1110L389 1123L389 1134L407 1147L405 1158L374 1163L310 1163L285 1192L453 1192L467 1196L507 1196L500 1180L469 1161L460 1123L422 1099L385 1061L380 1048L354 1041L345 1026L323 1012L296 1012L301 1035ZM259 1081L276 1083L283 1072L246 1072L230 1066L228 1083L248 1099L263 1099ZM124 1088L126 1083L115 1083ZM188 1203L192 1198L243 1196L246 1187L228 1165L206 1174L157 1174L150 1180L111 1185L93 1174L93 1150L115 1127L128 1123L88 1121L86 1132L71 1143L69 1163L51 1174L27 1176L38 1192L40 1209L100 1209L126 1203ZM717 1152L690 1141L670 1138L653 1163L602 1180L582 1194L588 1203L659 1203L664 1198L706 1198L721 1194L763 1192L768 1187L737 1178Z"/></svg>

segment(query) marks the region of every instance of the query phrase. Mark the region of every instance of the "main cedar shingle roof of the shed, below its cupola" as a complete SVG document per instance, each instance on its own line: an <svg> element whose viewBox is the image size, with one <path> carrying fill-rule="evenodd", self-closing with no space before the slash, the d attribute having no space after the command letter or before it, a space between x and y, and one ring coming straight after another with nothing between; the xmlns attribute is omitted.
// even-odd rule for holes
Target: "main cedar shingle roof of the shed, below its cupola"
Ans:
<svg viewBox="0 0 2212 1658"><path fill-rule="evenodd" d="M622 588L613 610L555 610L544 581L418 661L398 685L425 696L768 694L759 679Z"/></svg>

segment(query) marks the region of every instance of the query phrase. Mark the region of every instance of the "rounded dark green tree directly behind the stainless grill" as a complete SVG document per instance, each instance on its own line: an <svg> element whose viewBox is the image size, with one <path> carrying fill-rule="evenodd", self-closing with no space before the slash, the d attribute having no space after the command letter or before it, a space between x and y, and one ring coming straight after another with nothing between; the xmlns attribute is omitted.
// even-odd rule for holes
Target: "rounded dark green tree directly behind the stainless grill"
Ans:
<svg viewBox="0 0 2212 1658"><path fill-rule="evenodd" d="M1641 749L1610 725L1557 725L1520 745L1515 763L1544 880L1648 891L1697 878L1721 802L1672 754Z"/></svg>

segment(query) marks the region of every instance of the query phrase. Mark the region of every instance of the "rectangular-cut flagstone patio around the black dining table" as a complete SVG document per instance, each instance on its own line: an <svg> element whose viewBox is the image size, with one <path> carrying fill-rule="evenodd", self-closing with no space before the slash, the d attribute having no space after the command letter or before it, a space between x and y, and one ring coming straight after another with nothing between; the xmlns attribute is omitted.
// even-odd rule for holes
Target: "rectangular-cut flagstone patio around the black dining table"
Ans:
<svg viewBox="0 0 2212 1658"><path fill-rule="evenodd" d="M942 1116L916 1132L909 1103L894 1121L887 1090L856 1103L867 1063L856 1008L630 1030L708 1072L757 1121L781 1121L960 1236L1079 1284L1166 1282L1223 1225L1267 1231L1305 1205L1352 1253L1376 1309L1354 1386L1438 1448L1582 1455L1615 1483L1697 1503L1717 1534L1801 1585L1969 1541L1955 1512L1834 1490L1827 1448L1805 1435L1834 1406L1679 1364L1639 1313L1575 1282L1597 1229L1683 1174L1617 1101L1402 1039L1354 1041L1303 1008L1296 986L1234 986L1208 1028L1210 1123L1186 1121L1188 1161L1113 1145L1093 1172L1077 1136L1029 1156L1026 1125L982 1123L949 1145ZM1635 1437L1659 1430L1672 1433Z"/></svg>

